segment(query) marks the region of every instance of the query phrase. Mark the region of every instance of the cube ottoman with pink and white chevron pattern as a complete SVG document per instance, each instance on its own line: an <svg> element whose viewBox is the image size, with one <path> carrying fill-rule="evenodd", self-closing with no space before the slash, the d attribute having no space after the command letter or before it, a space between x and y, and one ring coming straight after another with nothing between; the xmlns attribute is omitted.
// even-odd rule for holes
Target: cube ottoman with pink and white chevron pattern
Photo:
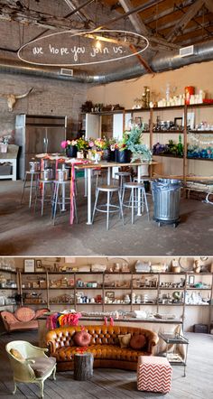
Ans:
<svg viewBox="0 0 213 399"><path fill-rule="evenodd" d="M162 392L171 390L171 364L166 357L139 356L137 363L137 389Z"/></svg>

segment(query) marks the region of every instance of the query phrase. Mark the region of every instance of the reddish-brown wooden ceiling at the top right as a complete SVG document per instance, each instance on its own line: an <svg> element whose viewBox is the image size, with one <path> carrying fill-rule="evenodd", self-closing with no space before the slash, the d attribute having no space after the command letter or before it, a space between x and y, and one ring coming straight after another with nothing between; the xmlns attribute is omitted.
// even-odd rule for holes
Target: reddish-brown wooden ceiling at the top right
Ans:
<svg viewBox="0 0 213 399"><path fill-rule="evenodd" d="M112 10L125 14L122 2L104 0ZM206 42L213 38L213 0L129 0L148 31L179 46Z"/></svg>

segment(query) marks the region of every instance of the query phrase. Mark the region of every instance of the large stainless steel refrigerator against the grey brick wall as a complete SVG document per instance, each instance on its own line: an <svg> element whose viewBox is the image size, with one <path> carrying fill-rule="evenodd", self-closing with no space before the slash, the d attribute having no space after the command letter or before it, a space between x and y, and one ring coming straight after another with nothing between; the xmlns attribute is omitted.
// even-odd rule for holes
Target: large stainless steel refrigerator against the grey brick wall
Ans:
<svg viewBox="0 0 213 399"><path fill-rule="evenodd" d="M17 115L15 144L20 146L18 176L23 180L36 153L60 153L66 139L67 116Z"/></svg>

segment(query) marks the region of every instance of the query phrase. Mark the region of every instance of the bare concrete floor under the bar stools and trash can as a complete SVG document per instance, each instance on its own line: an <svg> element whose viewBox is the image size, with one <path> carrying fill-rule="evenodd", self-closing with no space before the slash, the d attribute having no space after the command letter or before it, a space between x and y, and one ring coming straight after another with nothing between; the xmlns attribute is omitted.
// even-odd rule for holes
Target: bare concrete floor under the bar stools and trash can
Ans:
<svg viewBox="0 0 213 399"><path fill-rule="evenodd" d="M117 216L106 231L105 215L97 214L93 226L86 225L83 178L79 179L79 224L69 225L69 212L51 225L50 209L44 216L28 208L27 197L20 205L22 181L0 182L0 255L213 255L213 207L198 200L181 200L178 227L158 227L147 216L125 227ZM151 198L150 210L153 217Z"/></svg>

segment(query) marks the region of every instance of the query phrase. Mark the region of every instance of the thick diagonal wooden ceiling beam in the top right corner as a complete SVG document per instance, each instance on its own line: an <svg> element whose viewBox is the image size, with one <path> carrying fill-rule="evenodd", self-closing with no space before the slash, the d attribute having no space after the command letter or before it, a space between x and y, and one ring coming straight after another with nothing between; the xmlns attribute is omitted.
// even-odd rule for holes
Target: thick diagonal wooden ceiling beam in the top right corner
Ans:
<svg viewBox="0 0 213 399"><path fill-rule="evenodd" d="M197 0L193 5L190 5L190 9L181 17L172 31L166 36L166 40L169 42L174 42L176 37L183 31L185 26L190 22L190 20L198 14L200 8L205 4L205 0Z"/></svg>

